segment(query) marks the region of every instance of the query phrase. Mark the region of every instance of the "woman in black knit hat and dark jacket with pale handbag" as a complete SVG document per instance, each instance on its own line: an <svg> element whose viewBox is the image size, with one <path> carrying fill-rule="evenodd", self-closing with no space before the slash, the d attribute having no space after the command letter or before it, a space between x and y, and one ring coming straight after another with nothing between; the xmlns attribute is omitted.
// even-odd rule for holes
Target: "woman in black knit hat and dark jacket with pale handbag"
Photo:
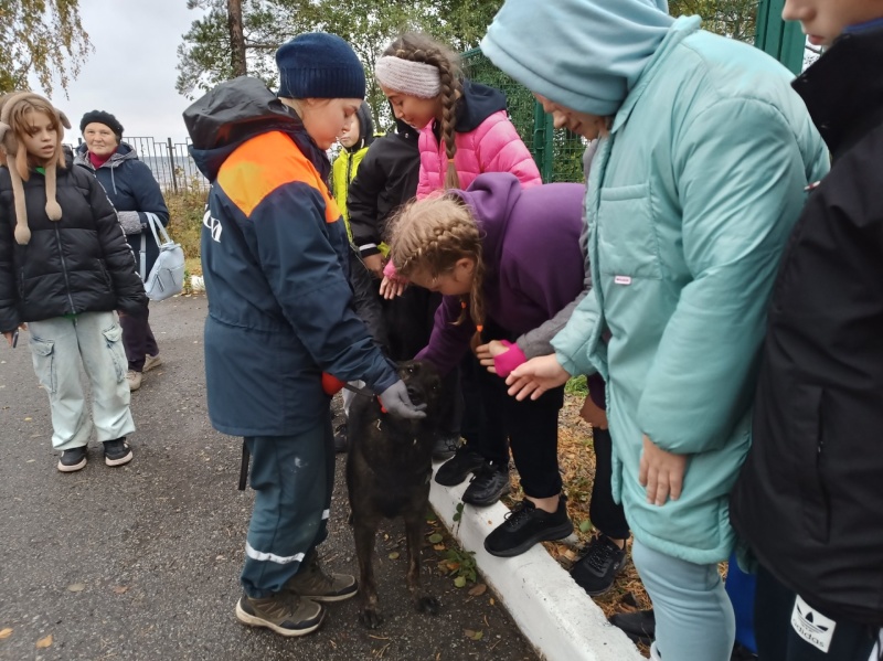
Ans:
<svg viewBox="0 0 883 661"><path fill-rule="evenodd" d="M141 279L147 280L159 256L159 246L150 230L150 216L163 226L169 223L169 210L153 173L131 145L123 142L123 125L103 110L92 110L79 120L85 142L75 153L74 162L86 168L102 182L107 196L117 210L119 223L138 260ZM141 375L161 363L159 347L143 314L123 314L123 341L129 369L126 380L129 390L141 387Z"/></svg>

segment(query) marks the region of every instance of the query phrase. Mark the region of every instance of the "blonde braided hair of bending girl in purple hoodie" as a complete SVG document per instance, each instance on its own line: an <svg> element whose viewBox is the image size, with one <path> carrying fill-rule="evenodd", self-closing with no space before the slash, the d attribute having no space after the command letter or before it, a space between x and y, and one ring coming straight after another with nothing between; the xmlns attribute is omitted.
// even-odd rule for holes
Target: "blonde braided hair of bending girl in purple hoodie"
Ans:
<svg viewBox="0 0 883 661"><path fill-rule="evenodd" d="M454 270L464 257L475 263L472 286L462 298L462 312L455 324L466 321L468 309L479 332L485 323L481 238L472 211L462 198L440 191L402 206L389 228L390 258L405 278L417 271L438 277Z"/></svg>

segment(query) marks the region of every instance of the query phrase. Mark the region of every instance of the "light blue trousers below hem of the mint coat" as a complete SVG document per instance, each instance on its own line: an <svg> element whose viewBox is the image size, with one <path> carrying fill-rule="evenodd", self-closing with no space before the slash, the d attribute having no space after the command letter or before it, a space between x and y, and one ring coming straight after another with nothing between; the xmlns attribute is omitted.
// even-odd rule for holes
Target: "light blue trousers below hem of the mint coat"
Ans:
<svg viewBox="0 0 883 661"><path fill-rule="evenodd" d="M653 603L655 658L730 661L736 622L717 565L688 563L637 539L631 559Z"/></svg>

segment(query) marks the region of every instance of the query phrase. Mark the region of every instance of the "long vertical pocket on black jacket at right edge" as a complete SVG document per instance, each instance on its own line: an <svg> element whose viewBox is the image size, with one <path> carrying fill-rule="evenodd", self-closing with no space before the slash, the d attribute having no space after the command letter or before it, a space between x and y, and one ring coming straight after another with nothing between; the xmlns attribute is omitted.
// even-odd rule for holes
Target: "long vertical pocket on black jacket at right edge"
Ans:
<svg viewBox="0 0 883 661"><path fill-rule="evenodd" d="M821 406L825 391L817 385L798 384L791 406L791 448L795 481L800 495L800 516L809 536L827 543L830 534L830 504L822 479L825 438Z"/></svg>

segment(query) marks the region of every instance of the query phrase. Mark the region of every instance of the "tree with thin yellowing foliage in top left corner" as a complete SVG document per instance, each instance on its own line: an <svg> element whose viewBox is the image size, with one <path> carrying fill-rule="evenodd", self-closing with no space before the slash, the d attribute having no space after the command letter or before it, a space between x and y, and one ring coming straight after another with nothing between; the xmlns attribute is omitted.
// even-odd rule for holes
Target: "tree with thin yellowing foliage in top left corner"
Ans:
<svg viewBox="0 0 883 661"><path fill-rule="evenodd" d="M79 0L0 0L0 93L24 89L34 74L52 94L53 74L67 92L92 52Z"/></svg>

